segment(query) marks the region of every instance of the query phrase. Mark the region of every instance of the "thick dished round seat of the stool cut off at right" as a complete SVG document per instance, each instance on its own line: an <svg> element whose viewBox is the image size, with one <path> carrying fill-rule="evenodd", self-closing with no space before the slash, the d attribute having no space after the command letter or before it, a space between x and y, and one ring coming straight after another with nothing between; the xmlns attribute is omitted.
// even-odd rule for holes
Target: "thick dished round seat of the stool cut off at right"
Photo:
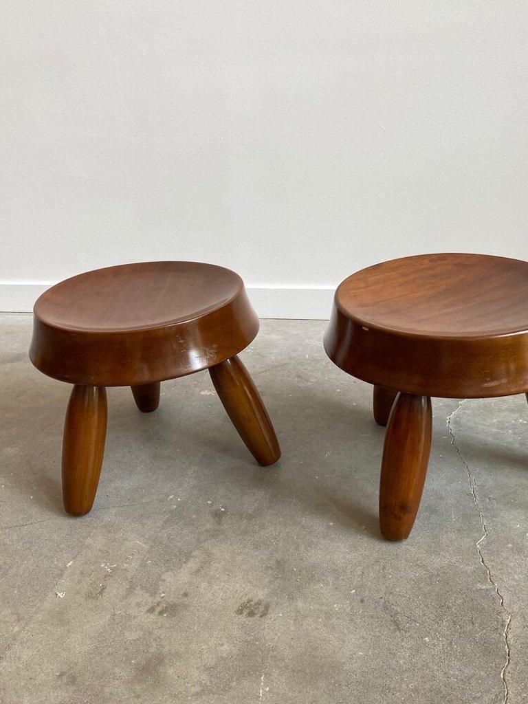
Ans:
<svg viewBox="0 0 528 704"><path fill-rule="evenodd" d="M348 374L409 394L528 389L528 263L479 254L395 259L348 277L325 335Z"/></svg>

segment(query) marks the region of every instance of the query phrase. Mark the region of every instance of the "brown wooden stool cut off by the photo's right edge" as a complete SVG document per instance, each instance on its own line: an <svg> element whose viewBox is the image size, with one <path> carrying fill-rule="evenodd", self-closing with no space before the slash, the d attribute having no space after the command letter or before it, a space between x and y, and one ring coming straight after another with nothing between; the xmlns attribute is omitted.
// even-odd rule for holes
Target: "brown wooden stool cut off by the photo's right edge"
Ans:
<svg viewBox="0 0 528 704"><path fill-rule="evenodd" d="M336 291L325 350L375 384L375 420L388 423L379 524L389 540L404 539L427 472L430 397L528 389L528 263L426 254L363 269Z"/></svg>

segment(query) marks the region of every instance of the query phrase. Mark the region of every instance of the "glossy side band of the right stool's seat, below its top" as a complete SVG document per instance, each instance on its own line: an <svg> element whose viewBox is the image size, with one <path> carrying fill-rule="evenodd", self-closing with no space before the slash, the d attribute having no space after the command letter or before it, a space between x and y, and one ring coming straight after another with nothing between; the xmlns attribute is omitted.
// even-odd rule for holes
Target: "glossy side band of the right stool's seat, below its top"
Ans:
<svg viewBox="0 0 528 704"><path fill-rule="evenodd" d="M334 298L324 346L344 372L376 386L444 398L528 391L528 332L427 337L362 325Z"/></svg>

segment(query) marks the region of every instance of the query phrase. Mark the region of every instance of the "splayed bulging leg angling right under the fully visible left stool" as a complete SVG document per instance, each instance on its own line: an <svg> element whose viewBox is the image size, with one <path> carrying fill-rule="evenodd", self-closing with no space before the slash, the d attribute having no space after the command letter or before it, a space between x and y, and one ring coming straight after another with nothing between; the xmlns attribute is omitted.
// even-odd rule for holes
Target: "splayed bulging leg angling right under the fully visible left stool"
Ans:
<svg viewBox="0 0 528 704"><path fill-rule="evenodd" d="M280 457L279 442L253 379L235 355L210 367L210 377L234 427L259 465Z"/></svg>

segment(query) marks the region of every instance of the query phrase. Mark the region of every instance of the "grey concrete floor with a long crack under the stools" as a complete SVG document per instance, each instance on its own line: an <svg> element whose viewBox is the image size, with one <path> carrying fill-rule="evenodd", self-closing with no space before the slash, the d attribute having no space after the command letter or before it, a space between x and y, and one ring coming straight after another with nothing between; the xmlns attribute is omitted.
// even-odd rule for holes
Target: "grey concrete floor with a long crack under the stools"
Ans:
<svg viewBox="0 0 528 704"><path fill-rule="evenodd" d="M206 372L151 415L111 389L73 519L69 387L30 365L30 316L0 316L1 704L528 702L524 396L434 400L415 529L383 541L384 430L324 328L265 321L241 355L278 465L253 463Z"/></svg>

